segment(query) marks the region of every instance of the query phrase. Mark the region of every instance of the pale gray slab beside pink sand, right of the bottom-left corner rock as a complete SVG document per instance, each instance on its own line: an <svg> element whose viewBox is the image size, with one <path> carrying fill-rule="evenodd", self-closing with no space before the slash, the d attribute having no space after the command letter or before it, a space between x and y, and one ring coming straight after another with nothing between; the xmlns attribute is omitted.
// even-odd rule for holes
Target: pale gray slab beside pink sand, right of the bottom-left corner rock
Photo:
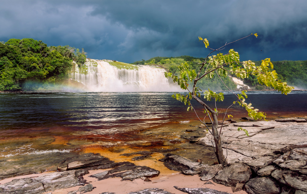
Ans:
<svg viewBox="0 0 307 194"><path fill-rule="evenodd" d="M34 179L42 183L46 191L55 191L60 188L70 188L81 185L76 176L76 170L52 172Z"/></svg>

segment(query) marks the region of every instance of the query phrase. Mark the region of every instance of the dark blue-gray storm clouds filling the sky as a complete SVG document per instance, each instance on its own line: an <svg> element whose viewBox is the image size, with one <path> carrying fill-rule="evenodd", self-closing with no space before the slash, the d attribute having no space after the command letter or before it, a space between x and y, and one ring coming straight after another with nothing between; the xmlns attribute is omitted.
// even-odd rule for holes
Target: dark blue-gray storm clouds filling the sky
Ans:
<svg viewBox="0 0 307 194"><path fill-rule="evenodd" d="M133 62L208 53L198 36L241 59L306 60L305 0L2 1L0 41L33 38L84 48L89 58Z"/></svg>

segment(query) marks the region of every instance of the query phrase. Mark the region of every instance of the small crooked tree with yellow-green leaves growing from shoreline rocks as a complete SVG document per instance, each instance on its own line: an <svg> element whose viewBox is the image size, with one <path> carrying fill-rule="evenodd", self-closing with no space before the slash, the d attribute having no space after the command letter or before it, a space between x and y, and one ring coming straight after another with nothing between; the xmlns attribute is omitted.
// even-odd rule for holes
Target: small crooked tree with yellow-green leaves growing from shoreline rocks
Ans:
<svg viewBox="0 0 307 194"><path fill-rule="evenodd" d="M244 38L247 38L251 35L255 35L256 37L258 36L257 34L250 34ZM281 93L285 95L287 95L294 88L288 86L286 82L278 80L277 73L274 70L272 70L273 64L272 62L270 62L270 58L262 60L261 65L256 67L255 63L251 62L250 60L240 62L239 53L235 52L233 49L229 50L227 54L219 53L210 56L213 52L222 50L226 45L234 43L244 38L235 40L234 42L231 43L226 43L225 45L223 45L218 49L210 48L207 39L202 39L201 37L198 38L199 41L202 41L204 43L206 48L210 49L210 53L206 57L205 61L203 63L200 63L198 72L196 73L194 69L191 70L189 68L188 63L184 63L178 66L178 68L174 72L165 72L165 77L171 77L173 81L177 82L177 84L182 89L188 90L187 95L182 95L179 93L172 95L174 99L177 99L181 102L184 102L185 105L188 105L188 110L193 110L193 106L191 105L191 99L195 99L198 103L200 103L204 107L205 118L208 116L208 118L212 123L212 128L209 129L204 120L202 121L198 117L198 115L197 114L196 115L199 118L199 120L207 127L207 131L209 131L213 136L216 147L215 154L218 162L220 164L227 164L227 160L223 155L223 149L220 138L222 127L218 131L219 112L216 106L212 108L208 106L208 104L205 103L204 100L201 99L200 95L201 90L196 86L197 81L200 79L211 79L213 76L218 76L221 82L223 83L221 76L226 77L228 73L231 73L235 74L238 78L242 79L248 78L249 75L255 75L257 76L259 84L266 85L268 87L274 87L274 89L281 91ZM188 83L192 83L191 84L192 87L188 87ZM241 94L235 94L232 92L233 95L237 97L237 100L234 101L232 105L238 103L239 105L243 106L247 110L248 116L254 118L255 120L260 120L262 118L265 119L266 118L265 113L252 107L251 103L249 104L245 103L245 99L247 98L245 92L246 91L242 91ZM208 89L208 91L204 91L204 99L206 99L207 101L211 101L212 99L214 99L216 102L223 101L224 95L222 92L216 93ZM227 110L224 113L223 121L226 117L226 114ZM228 117L229 116L231 115L228 115ZM245 129L238 128L238 131L239 130L243 130L248 135L248 132Z"/></svg>

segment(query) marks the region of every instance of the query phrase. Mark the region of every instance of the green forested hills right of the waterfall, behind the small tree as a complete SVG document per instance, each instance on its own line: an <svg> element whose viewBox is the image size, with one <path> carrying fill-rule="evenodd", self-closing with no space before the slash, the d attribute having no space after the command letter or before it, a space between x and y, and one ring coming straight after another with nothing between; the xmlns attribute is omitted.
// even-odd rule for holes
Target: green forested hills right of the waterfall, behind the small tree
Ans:
<svg viewBox="0 0 307 194"><path fill-rule="evenodd" d="M170 72L174 72L178 65L187 62L190 64L190 68L198 70L197 63L203 62L204 58L195 58L191 56L180 57L153 57L145 61L136 61L132 64L142 65L157 65L167 69ZM253 61L256 66L261 64L261 61ZM274 65L274 70L278 73L278 79L286 81L289 85L298 87L300 89L307 89L307 61L271 61ZM235 75L232 75L235 76ZM229 80L228 77L222 78L224 83L231 89L235 89L235 85ZM244 80L249 86L254 86L256 90L263 90L267 87L258 84L256 76L249 76ZM210 81L203 80L199 85L200 88L213 88L215 90L226 90L227 88L220 82L218 77L213 77Z"/></svg>

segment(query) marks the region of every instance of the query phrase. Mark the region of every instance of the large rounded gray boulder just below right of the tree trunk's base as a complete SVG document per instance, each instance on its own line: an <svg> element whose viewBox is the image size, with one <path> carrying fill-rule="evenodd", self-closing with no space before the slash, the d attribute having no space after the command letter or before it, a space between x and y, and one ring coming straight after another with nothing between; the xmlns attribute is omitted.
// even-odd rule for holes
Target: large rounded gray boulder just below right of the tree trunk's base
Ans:
<svg viewBox="0 0 307 194"><path fill-rule="evenodd" d="M246 183L251 178L251 168L243 163L234 163L220 170L213 178L213 181L235 187L237 183Z"/></svg>

